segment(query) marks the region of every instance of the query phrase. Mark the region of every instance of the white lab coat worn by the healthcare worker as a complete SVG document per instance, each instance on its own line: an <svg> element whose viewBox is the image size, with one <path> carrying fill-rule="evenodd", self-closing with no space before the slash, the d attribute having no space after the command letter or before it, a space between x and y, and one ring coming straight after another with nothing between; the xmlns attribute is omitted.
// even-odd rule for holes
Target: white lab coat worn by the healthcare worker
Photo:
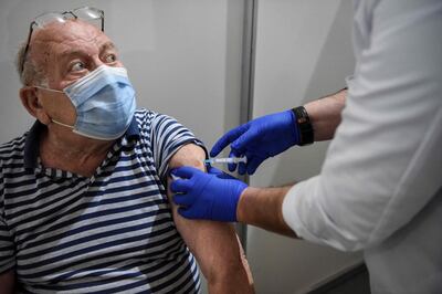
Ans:
<svg viewBox="0 0 442 294"><path fill-rule="evenodd" d="M354 46L341 124L284 219L364 250L372 293L442 293L442 1L355 0Z"/></svg>

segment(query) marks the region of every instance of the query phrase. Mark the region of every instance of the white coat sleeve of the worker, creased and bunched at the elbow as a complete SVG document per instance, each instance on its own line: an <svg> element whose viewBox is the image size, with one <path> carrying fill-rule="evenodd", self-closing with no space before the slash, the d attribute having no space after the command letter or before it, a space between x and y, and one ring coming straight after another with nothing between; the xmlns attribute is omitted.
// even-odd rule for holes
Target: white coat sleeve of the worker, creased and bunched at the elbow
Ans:
<svg viewBox="0 0 442 294"><path fill-rule="evenodd" d="M303 239L355 251L406 225L442 185L442 1L378 1L320 175L283 203Z"/></svg>

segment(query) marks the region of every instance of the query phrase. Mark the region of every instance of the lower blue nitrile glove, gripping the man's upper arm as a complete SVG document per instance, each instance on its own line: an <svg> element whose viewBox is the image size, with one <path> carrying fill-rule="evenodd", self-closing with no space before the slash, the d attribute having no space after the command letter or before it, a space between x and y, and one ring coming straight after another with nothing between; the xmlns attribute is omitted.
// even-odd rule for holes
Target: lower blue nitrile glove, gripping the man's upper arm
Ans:
<svg viewBox="0 0 442 294"><path fill-rule="evenodd" d="M182 217L236 221L238 200L248 185L213 167L208 174L192 167L180 167L171 174L181 178L173 180L170 189Z"/></svg>

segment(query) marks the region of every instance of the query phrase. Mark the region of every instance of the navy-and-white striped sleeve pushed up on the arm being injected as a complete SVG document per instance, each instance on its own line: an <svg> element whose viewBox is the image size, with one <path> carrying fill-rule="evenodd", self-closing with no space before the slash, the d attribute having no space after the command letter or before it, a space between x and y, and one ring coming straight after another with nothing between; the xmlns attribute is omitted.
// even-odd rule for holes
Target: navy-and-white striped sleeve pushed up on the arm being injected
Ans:
<svg viewBox="0 0 442 294"><path fill-rule="evenodd" d="M206 147L201 140L175 118L158 114L151 122L151 146L154 151L155 165L160 179L166 177L169 159L178 149L189 143L201 146L206 154Z"/></svg>

